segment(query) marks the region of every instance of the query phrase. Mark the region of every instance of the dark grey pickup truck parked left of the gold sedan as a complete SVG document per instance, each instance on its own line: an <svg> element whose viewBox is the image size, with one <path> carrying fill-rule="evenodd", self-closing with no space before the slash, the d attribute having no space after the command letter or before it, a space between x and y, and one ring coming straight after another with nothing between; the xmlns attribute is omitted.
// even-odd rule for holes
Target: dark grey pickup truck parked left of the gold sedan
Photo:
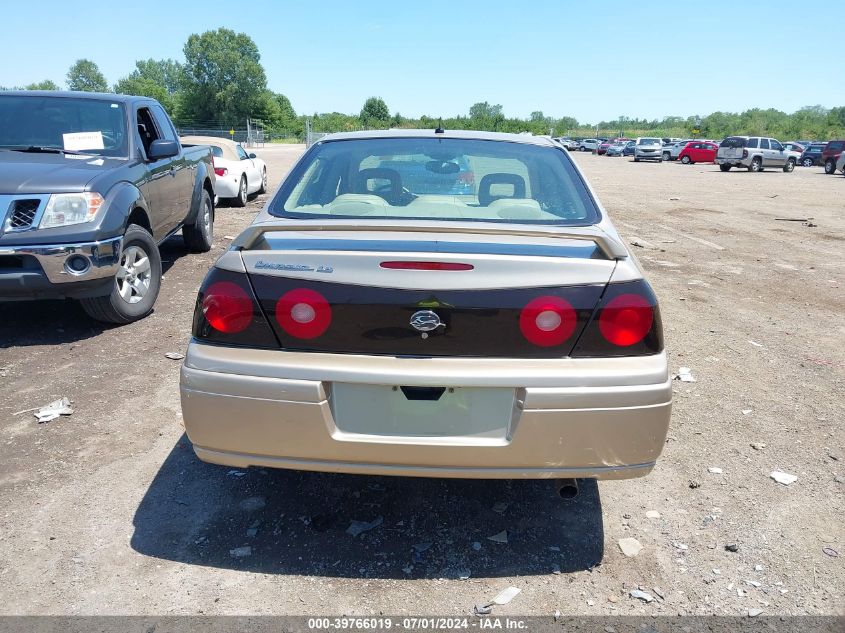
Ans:
<svg viewBox="0 0 845 633"><path fill-rule="evenodd" d="M153 309L158 244L211 248L214 166L146 97L0 92L0 301L78 299L94 319Z"/></svg>

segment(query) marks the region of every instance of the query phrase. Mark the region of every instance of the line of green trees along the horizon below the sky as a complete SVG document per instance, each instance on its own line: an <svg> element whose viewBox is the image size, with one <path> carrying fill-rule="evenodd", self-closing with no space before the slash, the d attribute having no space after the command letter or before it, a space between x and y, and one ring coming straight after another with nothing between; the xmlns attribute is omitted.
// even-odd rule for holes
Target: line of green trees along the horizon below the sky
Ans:
<svg viewBox="0 0 845 633"><path fill-rule="evenodd" d="M325 112L297 114L290 100L267 87L267 75L255 42L245 33L220 28L191 35L183 48L184 61L147 59L114 85L109 85L97 64L77 60L68 70L69 90L114 92L153 97L181 128L243 128L247 118L273 136L302 137L306 118L319 132L359 129L434 128L474 129L498 132L530 132L556 136L664 136L688 137L699 129L701 138L720 139L732 134L772 136L782 140L845 137L845 106L807 106L792 113L774 108L753 108L741 113L713 112L701 117L668 116L663 119L632 119L624 116L595 124L574 117L547 116L532 112L528 118L505 116L502 106L486 101L470 107L466 115L419 118L390 113L381 97L370 97L354 114ZM0 87L0 90L4 88ZM44 80L19 87L24 90L60 90ZM696 128L696 125L698 128Z"/></svg>

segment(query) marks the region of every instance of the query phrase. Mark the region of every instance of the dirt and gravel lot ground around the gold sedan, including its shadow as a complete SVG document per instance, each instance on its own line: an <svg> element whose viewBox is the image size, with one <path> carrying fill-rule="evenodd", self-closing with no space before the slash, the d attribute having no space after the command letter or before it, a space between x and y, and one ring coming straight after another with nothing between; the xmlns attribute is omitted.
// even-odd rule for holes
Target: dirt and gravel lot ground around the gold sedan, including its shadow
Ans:
<svg viewBox="0 0 845 633"><path fill-rule="evenodd" d="M301 151L258 150L271 185ZM673 370L696 378L674 383L651 475L561 501L548 482L199 462L165 353L184 351L203 275L261 196L218 210L213 252L163 245L139 323L0 305L0 613L466 614L513 585L497 615L845 614L845 178L573 155L640 244ZM62 396L70 417L18 413Z"/></svg>

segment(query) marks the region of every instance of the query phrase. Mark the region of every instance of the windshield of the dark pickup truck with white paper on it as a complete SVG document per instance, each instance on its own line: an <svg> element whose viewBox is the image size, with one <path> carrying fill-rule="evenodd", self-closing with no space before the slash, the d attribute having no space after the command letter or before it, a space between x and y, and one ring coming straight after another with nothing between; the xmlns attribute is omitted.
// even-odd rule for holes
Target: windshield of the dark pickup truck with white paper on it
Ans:
<svg viewBox="0 0 845 633"><path fill-rule="evenodd" d="M0 149L29 147L126 156L123 105L73 97L0 96Z"/></svg>

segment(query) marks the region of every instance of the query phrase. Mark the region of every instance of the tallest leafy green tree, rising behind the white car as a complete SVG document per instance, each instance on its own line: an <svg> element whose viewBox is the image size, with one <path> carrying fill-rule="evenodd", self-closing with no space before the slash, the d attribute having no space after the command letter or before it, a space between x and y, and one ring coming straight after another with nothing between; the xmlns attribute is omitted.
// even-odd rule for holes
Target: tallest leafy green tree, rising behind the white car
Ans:
<svg viewBox="0 0 845 633"><path fill-rule="evenodd" d="M180 119L241 124L266 105L261 55L245 33L221 28L191 35L184 51Z"/></svg>

